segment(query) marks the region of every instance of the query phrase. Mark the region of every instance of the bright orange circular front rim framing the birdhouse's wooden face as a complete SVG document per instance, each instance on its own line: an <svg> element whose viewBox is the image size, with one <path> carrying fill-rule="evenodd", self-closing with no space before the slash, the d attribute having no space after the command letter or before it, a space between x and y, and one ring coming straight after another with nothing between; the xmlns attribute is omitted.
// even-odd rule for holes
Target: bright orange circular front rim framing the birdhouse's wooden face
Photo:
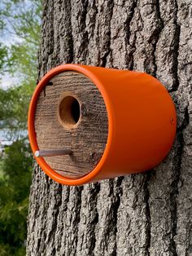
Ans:
<svg viewBox="0 0 192 256"><path fill-rule="evenodd" d="M82 185L82 184L89 183L89 182L93 181L94 177L102 169L103 164L107 159L107 155L108 155L108 152L111 147L111 139L112 139L112 133L113 133L113 127L112 127L112 119L113 118L112 118L112 113L111 113L110 100L108 98L106 90L104 90L104 88L103 88L102 83L98 80L98 78L96 76L94 76L93 73L91 73L89 70L87 70L83 66L77 65L77 64L60 65L56 68L53 68L48 73L46 73L46 75L44 77L42 77L41 81L38 83L36 89L34 90L31 102L29 104L29 108L28 108L28 138L29 138L29 142L31 144L33 154L34 154L34 152L39 150L38 145L37 145L35 126L34 126L34 117L35 117L38 96L40 95L41 90L46 86L47 82L49 82L52 77L54 77L58 73L62 73L64 71L69 71L69 70L76 71L78 73L82 73L86 77L89 77L89 79L91 79L94 82L95 86L98 87L98 90L100 91L100 93L103 96L103 99L104 99L104 102L105 102L106 108L107 108L107 115L108 115L108 137L107 137L106 148L103 152L103 157L98 162L98 165L94 167L94 170L91 170L89 172L89 174L85 174L84 176L82 176L81 178L78 178L78 179L69 179L68 177L64 177L64 176L58 174L57 172L55 172L55 170L50 168L50 166L46 163L46 161L44 160L43 157L35 157L35 158L36 158L38 165L41 167L41 169L44 170L45 173L48 176L50 176L51 179L54 179L56 182L62 183L65 185L77 186L77 185Z"/></svg>

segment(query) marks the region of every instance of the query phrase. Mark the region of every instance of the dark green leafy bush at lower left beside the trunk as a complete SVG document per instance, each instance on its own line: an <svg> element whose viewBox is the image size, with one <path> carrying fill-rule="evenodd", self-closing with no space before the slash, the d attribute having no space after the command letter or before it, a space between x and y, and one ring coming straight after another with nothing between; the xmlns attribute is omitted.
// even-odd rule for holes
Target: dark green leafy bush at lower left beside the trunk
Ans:
<svg viewBox="0 0 192 256"><path fill-rule="evenodd" d="M15 141L6 148L0 179L0 255L25 255L26 216L32 156L28 143Z"/></svg>

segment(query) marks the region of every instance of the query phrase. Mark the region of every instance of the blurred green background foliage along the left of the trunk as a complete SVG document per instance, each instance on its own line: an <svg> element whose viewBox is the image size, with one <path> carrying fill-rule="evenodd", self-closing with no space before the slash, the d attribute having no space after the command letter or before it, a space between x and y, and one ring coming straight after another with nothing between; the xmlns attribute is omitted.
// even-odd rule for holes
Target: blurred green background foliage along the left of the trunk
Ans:
<svg viewBox="0 0 192 256"><path fill-rule="evenodd" d="M28 103L37 79L41 0L0 2L0 129L8 129L11 146L0 157L0 255L25 255L26 217L32 154L26 137Z"/></svg>

